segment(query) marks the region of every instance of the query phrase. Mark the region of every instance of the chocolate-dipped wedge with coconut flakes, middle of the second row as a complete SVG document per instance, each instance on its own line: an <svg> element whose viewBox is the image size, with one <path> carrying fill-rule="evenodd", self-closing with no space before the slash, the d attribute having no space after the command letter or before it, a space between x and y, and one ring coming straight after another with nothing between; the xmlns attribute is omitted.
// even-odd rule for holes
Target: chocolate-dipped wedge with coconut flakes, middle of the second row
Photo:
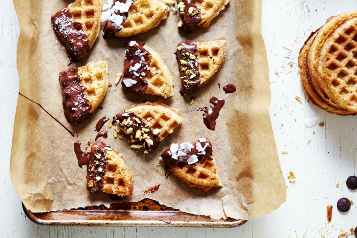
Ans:
<svg viewBox="0 0 357 238"><path fill-rule="evenodd" d="M140 41L127 44L121 85L127 92L173 96L173 77L161 57Z"/></svg>

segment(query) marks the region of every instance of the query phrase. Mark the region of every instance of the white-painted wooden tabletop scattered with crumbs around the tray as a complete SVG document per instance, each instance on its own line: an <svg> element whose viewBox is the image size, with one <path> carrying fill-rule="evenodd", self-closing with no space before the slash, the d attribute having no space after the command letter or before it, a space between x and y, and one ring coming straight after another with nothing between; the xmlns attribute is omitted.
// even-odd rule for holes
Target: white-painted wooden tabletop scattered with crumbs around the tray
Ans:
<svg viewBox="0 0 357 238"><path fill-rule="evenodd" d="M299 49L312 30L330 16L356 9L357 2L353 0L263 0L263 37L272 95L270 116L288 187L287 202L272 214L231 229L45 227L25 217L9 176L19 88L19 27L12 1L0 1L0 237L337 237L357 226L357 205L352 205L347 214L336 209L341 197L357 202L357 192L349 191L345 183L355 173L357 118L331 115L311 105L301 89L297 67ZM301 97L302 103L295 96ZM305 127L304 120L316 116L324 126ZM295 173L295 183L288 182L289 171ZM332 221L327 223L329 204L334 205L334 210Z"/></svg>

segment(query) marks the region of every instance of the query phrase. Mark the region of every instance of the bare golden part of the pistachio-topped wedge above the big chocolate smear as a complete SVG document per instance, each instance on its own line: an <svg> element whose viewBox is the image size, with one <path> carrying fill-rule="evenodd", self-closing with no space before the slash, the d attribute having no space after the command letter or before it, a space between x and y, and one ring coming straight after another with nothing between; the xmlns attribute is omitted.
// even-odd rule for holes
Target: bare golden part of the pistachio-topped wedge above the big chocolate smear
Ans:
<svg viewBox="0 0 357 238"><path fill-rule="evenodd" d="M221 68L226 56L226 41L206 41L195 42L198 49L199 79L198 88L202 88L212 80L214 75Z"/></svg>

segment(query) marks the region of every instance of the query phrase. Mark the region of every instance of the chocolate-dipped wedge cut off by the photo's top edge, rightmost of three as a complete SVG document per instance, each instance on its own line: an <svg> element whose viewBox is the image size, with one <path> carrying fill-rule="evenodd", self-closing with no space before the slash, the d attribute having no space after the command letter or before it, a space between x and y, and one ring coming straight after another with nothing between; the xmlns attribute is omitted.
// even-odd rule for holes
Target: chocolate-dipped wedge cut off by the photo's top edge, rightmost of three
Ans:
<svg viewBox="0 0 357 238"><path fill-rule="evenodd" d="M177 27L187 33L194 32L198 27L207 28L228 2L230 0L177 0L180 13Z"/></svg>

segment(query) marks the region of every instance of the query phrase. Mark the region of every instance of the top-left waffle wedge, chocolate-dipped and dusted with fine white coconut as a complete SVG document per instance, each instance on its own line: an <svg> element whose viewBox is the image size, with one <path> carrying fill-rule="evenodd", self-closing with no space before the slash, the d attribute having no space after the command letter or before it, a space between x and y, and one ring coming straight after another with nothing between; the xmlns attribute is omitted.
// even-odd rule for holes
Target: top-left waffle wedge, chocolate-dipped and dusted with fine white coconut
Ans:
<svg viewBox="0 0 357 238"><path fill-rule="evenodd" d="M66 48L72 62L79 62L89 54L100 32L99 0L76 0L52 15L53 30Z"/></svg>

